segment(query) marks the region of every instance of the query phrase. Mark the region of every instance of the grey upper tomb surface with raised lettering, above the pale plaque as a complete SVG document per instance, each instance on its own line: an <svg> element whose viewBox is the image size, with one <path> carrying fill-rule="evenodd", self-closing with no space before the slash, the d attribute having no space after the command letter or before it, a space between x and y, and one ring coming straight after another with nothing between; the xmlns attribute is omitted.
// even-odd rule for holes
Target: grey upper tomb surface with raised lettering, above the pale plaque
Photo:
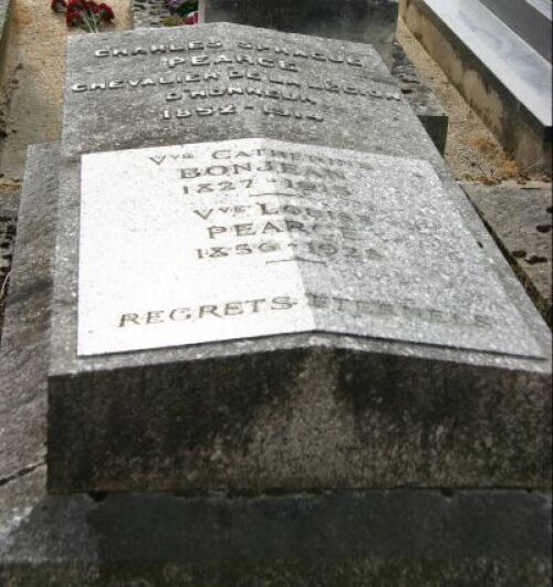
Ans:
<svg viewBox="0 0 553 587"><path fill-rule="evenodd" d="M121 54L124 49L128 55ZM208 65L217 59L222 63ZM204 80L209 74L217 78ZM420 153L407 140L419 128L417 118L368 45L227 23L75 35L69 39L66 84L62 149L71 158L179 144L184 137L194 143L262 136L398 156ZM428 137L425 143L430 145Z"/></svg>

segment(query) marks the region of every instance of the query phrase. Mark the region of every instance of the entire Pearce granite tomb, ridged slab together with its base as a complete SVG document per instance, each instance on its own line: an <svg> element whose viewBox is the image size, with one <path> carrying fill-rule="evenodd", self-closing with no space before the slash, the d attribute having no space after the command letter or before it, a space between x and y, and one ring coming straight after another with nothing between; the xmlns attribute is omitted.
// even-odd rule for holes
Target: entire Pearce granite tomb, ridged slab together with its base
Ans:
<svg viewBox="0 0 553 587"><path fill-rule="evenodd" d="M373 50L225 24L69 60L21 197L0 583L546 585L549 334Z"/></svg>

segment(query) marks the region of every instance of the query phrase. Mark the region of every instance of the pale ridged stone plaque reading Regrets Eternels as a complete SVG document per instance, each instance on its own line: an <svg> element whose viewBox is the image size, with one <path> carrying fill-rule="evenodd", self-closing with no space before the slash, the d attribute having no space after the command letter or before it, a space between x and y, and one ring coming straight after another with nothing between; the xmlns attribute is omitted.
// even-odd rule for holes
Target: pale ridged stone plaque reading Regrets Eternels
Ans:
<svg viewBox="0 0 553 587"><path fill-rule="evenodd" d="M540 355L425 161L267 139L82 157L80 356L307 331Z"/></svg>

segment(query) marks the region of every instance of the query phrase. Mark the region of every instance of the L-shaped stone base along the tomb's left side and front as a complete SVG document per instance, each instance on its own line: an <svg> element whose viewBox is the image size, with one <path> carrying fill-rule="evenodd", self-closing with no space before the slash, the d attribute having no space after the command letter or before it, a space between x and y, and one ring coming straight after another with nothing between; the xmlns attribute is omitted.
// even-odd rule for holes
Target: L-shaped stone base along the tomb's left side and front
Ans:
<svg viewBox="0 0 553 587"><path fill-rule="evenodd" d="M1 585L549 585L541 491L46 495L58 159L56 146L31 149L20 209L0 370Z"/></svg>

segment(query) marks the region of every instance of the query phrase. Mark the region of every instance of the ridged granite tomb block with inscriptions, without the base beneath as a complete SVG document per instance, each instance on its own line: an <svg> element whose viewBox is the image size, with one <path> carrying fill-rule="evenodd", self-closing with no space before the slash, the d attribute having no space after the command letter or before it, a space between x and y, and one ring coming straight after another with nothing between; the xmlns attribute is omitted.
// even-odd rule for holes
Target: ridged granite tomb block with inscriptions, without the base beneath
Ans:
<svg viewBox="0 0 553 587"><path fill-rule="evenodd" d="M51 491L549 484L547 331L373 49L72 38L61 156Z"/></svg>

